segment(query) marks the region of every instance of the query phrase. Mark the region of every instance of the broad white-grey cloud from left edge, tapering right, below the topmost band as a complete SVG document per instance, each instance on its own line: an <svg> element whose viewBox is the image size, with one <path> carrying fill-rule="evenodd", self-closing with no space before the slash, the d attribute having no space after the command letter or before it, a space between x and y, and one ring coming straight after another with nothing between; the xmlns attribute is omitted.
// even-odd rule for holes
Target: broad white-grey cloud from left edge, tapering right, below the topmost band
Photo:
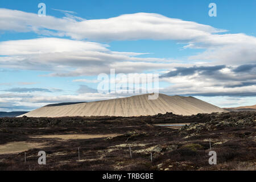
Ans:
<svg viewBox="0 0 256 182"><path fill-rule="evenodd" d="M137 73L183 65L177 60L135 57L142 54L111 51L106 44L60 38L0 42L1 67L53 72L48 76L98 75L109 73L110 68L119 73Z"/></svg>

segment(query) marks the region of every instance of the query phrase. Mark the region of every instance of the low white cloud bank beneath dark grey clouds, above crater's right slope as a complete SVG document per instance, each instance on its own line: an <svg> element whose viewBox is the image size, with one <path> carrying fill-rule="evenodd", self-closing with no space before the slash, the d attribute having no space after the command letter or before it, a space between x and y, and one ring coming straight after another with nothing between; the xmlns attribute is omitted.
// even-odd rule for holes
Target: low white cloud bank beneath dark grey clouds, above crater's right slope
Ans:
<svg viewBox="0 0 256 182"><path fill-rule="evenodd" d="M237 76L237 75L236 75ZM197 74L190 76L176 76L170 78L161 78L160 81L170 82L171 86L160 89L160 93L181 94L189 96L255 96L256 79L254 80L221 80L210 76L199 76ZM243 82L252 82L249 85L243 85ZM254 82L254 83L253 83ZM241 85L239 85L241 84ZM238 85L238 86L234 86Z"/></svg>

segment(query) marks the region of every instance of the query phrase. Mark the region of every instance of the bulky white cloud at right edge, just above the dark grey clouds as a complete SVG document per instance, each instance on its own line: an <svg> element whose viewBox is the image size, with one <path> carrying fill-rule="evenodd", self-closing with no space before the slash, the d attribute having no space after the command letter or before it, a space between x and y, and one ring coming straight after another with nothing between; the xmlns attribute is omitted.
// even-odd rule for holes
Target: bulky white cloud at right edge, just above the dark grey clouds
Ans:
<svg viewBox="0 0 256 182"><path fill-rule="evenodd" d="M188 47L206 49L203 53L189 56L190 60L208 60L214 64L225 63L228 65L255 63L256 38L254 36L245 34L211 35L204 40L197 40Z"/></svg>

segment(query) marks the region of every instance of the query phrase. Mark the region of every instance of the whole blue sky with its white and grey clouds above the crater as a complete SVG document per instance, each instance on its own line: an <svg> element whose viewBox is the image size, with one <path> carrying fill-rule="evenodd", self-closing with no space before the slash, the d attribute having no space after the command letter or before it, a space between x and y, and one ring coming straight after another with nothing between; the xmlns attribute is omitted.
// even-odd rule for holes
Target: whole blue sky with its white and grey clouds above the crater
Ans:
<svg viewBox="0 0 256 182"><path fill-rule="evenodd" d="M37 16L41 2L46 18ZM208 15L211 2L216 17ZM1 1L0 111L127 96L93 92L98 74L110 68L157 72L163 75L159 91L168 95L195 96L220 107L254 105L255 6L255 1Z"/></svg>

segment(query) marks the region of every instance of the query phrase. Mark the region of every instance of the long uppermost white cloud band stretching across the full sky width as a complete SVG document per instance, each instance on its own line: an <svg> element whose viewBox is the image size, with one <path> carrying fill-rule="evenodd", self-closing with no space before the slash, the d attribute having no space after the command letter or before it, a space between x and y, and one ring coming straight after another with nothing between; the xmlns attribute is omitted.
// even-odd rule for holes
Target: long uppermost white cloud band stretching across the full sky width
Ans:
<svg viewBox="0 0 256 182"><path fill-rule="evenodd" d="M0 9L0 30L35 32L72 39L101 40L176 40L184 48L203 48L205 52L191 55L191 60L212 61L212 64L238 65L251 63L256 57L256 38L245 34L218 34L218 28L168 18L154 13L124 14L108 19L77 20L70 13L64 18L39 17L34 13ZM11 22L11 23L10 23ZM24 53L26 53L24 51ZM114 53L114 52L113 52ZM127 56L127 55L126 55ZM131 55L130 55L131 56Z"/></svg>

